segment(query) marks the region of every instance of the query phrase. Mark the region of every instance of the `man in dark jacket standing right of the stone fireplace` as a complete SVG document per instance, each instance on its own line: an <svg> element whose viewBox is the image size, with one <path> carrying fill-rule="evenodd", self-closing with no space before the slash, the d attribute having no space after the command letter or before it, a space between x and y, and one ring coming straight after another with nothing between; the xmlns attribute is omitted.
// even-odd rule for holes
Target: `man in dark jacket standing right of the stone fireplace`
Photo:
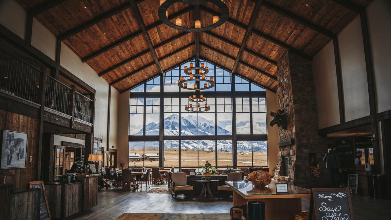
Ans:
<svg viewBox="0 0 391 220"><path fill-rule="evenodd" d="M340 173L341 165L339 163L339 158L337 152L335 152L335 146L333 145L331 150L329 150L325 157L323 157L323 161L326 162L326 168L328 169L328 173L330 175L330 187L340 187ZM336 181L335 181L336 180Z"/></svg>

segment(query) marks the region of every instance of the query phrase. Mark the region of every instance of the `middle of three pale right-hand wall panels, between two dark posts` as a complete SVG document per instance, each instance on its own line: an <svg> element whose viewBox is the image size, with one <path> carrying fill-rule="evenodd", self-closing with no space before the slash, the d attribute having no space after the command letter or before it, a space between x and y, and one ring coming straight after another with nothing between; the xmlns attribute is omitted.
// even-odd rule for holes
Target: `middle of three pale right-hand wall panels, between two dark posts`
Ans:
<svg viewBox="0 0 391 220"><path fill-rule="evenodd" d="M348 122L369 115L368 82L360 16L357 16L338 34L338 43L345 120Z"/></svg>

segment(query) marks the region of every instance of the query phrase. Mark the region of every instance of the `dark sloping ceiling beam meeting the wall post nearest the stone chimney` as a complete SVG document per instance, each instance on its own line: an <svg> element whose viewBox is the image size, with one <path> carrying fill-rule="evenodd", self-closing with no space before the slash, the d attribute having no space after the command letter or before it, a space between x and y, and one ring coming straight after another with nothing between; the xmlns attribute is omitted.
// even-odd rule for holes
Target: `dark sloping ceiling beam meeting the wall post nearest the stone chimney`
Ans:
<svg viewBox="0 0 391 220"><path fill-rule="evenodd" d="M315 30L316 32L319 32L329 38L335 38L335 34L333 34L332 32L326 30L325 28L323 27L320 27L318 25L315 25L313 23L311 23L310 21L307 21L305 20L304 18L301 18L300 16L297 16L296 14L293 14L289 11L286 11L285 9L282 9L280 7L277 7L273 4L270 4L269 2L263 2L262 3L262 6L267 8L267 9L270 9L278 14L281 14L282 16L285 16L293 21L296 21L297 23L300 23L312 30Z"/></svg>

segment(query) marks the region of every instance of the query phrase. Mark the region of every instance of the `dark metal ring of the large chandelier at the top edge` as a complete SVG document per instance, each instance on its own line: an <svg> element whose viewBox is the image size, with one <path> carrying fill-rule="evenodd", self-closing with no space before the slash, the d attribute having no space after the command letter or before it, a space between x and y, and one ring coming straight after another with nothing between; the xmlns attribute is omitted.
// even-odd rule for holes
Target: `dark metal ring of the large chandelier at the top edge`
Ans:
<svg viewBox="0 0 391 220"><path fill-rule="evenodd" d="M191 1L196 1L196 0L190 0ZM177 2L183 2L183 0L166 0L163 2L163 4L160 5L159 10L158 10L158 15L160 20L165 23L167 26L172 27L177 30L182 30L182 31L187 31L187 32L201 32L201 31L206 31L206 30L211 30L216 27L221 26L224 22L228 21L228 17L230 16L230 10L228 9L228 6L222 2L221 0L204 0L206 2L210 2L214 5L216 5L220 11L221 11L221 16L219 20L216 23L213 23L212 25L206 26L206 27L200 27L200 28L188 28L188 27L182 27L179 25L176 25L172 23L167 17L166 17L166 11L167 9L177 3ZM190 3L191 5L191 3Z"/></svg>

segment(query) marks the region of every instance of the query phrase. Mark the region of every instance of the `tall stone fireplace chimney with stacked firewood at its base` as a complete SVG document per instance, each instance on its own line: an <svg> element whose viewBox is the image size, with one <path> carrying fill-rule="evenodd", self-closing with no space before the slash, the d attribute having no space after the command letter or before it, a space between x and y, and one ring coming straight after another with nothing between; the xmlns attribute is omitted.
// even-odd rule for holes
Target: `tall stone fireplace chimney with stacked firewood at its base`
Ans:
<svg viewBox="0 0 391 220"><path fill-rule="evenodd" d="M277 76L278 108L285 110L288 123L287 129L278 128L280 147L274 178L295 186L326 186L323 156L327 143L326 137L318 135L311 61L285 51L277 62Z"/></svg>

